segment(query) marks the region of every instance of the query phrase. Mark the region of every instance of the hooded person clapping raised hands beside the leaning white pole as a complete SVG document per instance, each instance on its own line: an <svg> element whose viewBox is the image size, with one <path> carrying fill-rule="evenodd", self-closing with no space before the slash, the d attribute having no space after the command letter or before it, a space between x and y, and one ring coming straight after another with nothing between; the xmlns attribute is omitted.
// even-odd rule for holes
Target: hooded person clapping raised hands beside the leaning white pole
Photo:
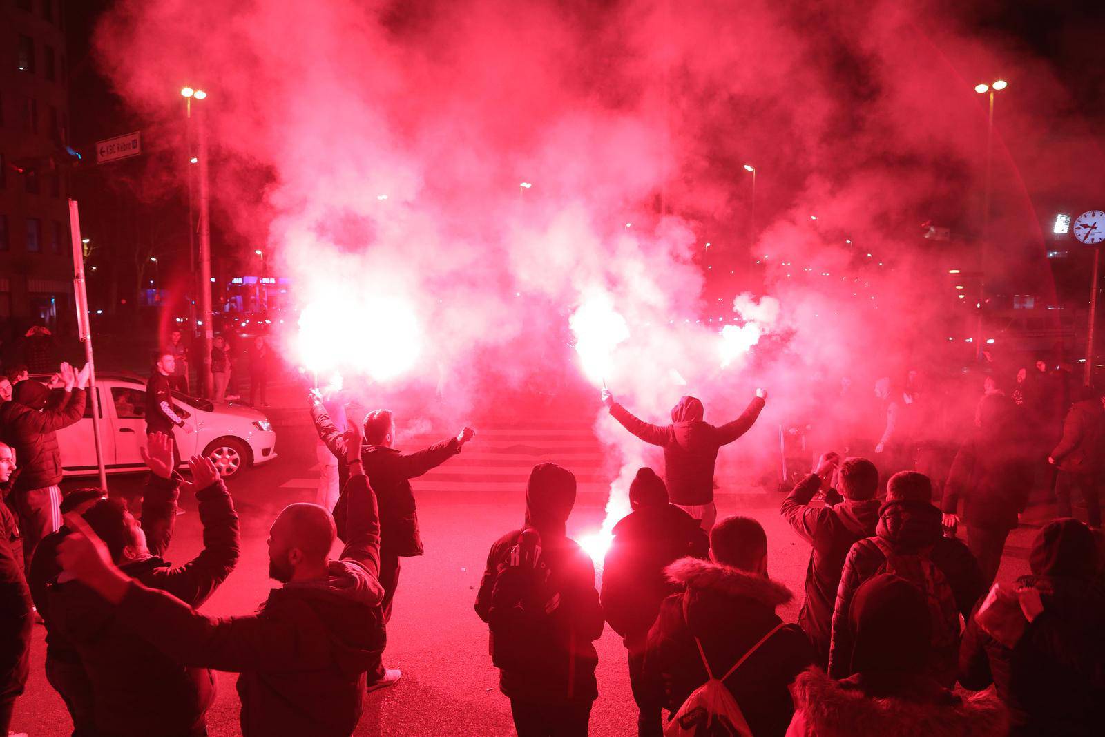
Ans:
<svg viewBox="0 0 1105 737"><path fill-rule="evenodd" d="M39 381L25 379L15 385L12 400L0 404L0 440L15 451L20 474L8 506L19 519L23 536L23 565L31 565L34 547L43 537L62 526L57 506L62 501L62 455L57 448L59 430L75 424L84 414L84 388L91 369L74 371L61 365L64 391L51 396Z"/></svg>

